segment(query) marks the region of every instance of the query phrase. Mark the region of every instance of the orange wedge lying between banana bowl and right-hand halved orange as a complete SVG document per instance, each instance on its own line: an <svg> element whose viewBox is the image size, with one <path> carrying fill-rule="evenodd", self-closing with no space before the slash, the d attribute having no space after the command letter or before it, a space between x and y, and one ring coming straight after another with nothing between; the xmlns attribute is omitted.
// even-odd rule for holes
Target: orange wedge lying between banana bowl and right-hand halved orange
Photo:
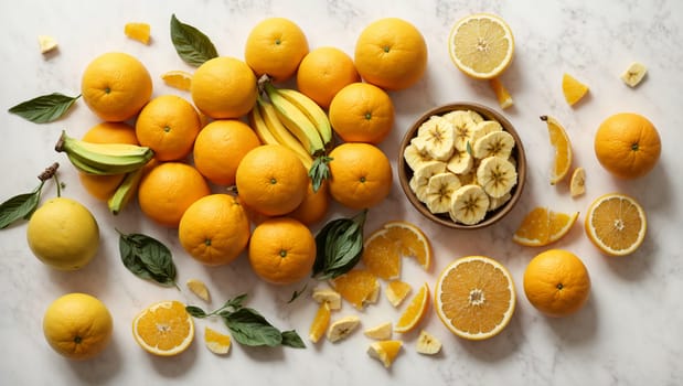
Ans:
<svg viewBox="0 0 683 386"><path fill-rule="evenodd" d="M527 247L541 247L564 237L578 218L578 212L561 213L535 207L526 214L512 240Z"/></svg>

